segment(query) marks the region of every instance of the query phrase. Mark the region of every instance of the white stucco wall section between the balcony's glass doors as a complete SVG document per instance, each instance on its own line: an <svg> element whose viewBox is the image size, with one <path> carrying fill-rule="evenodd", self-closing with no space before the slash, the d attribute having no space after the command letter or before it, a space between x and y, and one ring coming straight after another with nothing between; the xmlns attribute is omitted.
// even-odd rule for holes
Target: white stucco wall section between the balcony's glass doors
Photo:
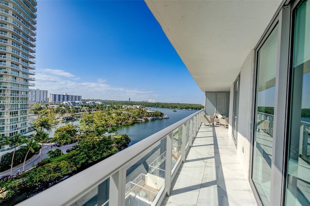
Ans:
<svg viewBox="0 0 310 206"><path fill-rule="evenodd" d="M237 156L243 173L249 178L250 165L250 122L254 72L254 50L251 50L241 66L238 114Z"/></svg>

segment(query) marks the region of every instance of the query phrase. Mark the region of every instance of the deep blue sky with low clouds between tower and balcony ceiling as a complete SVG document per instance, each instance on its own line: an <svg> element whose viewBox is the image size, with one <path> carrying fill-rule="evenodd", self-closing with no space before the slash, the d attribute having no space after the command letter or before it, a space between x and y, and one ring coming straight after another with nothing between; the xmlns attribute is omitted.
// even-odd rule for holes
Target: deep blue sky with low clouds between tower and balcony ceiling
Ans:
<svg viewBox="0 0 310 206"><path fill-rule="evenodd" d="M203 103L144 1L38 0L35 88L83 99Z"/></svg>

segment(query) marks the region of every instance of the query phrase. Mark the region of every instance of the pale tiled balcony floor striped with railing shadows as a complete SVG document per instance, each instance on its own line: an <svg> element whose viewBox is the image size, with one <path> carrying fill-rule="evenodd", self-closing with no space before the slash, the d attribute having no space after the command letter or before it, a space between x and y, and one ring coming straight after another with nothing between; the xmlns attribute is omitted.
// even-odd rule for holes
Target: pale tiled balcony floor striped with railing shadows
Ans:
<svg viewBox="0 0 310 206"><path fill-rule="evenodd" d="M202 125L162 205L257 206L227 129Z"/></svg>

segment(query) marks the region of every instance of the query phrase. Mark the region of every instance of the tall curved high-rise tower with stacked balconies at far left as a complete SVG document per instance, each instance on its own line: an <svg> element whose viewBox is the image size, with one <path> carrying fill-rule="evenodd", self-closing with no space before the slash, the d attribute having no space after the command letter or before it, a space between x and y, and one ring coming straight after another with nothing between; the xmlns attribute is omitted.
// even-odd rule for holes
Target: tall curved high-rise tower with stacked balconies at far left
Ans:
<svg viewBox="0 0 310 206"><path fill-rule="evenodd" d="M0 1L0 135L32 133L30 86L35 80L36 0Z"/></svg>

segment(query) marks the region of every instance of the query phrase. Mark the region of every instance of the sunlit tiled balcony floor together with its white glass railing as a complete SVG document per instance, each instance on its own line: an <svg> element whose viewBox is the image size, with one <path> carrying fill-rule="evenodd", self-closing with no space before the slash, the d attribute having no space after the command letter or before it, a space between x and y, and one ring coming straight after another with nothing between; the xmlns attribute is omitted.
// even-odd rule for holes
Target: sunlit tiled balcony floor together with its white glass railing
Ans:
<svg viewBox="0 0 310 206"><path fill-rule="evenodd" d="M21 204L35 206L48 199L50 205L257 205L228 130L201 126L202 114L198 111Z"/></svg>

